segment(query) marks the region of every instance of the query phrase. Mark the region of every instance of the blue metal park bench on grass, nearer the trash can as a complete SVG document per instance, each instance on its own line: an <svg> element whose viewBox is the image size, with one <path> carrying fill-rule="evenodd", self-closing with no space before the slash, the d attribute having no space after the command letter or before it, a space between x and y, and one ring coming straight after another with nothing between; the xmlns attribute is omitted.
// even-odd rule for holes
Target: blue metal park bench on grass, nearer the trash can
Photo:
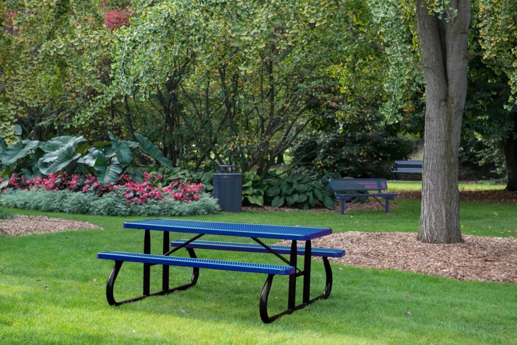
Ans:
<svg viewBox="0 0 517 345"><path fill-rule="evenodd" d="M345 215L345 210L352 206L360 198L373 197L383 207L386 213L389 212L389 200L393 200L398 194L383 193L388 189L385 179L330 179L328 181L330 191L334 197L341 201L341 214ZM369 192L376 193L369 193ZM378 198L385 200L383 203ZM345 207L345 201L351 201Z"/></svg>

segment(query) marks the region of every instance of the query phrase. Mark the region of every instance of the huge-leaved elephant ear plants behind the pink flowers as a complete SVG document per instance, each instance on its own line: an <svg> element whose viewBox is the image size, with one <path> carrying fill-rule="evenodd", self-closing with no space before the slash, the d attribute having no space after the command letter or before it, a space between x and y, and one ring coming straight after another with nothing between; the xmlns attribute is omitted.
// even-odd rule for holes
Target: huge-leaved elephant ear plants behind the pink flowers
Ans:
<svg viewBox="0 0 517 345"><path fill-rule="evenodd" d="M26 139L10 146L0 139L0 189L12 176L31 179L59 171L96 175L101 185L116 182L122 174L143 182L138 168L147 168L147 165L139 165L136 161L139 155L149 156L162 166L174 169L172 162L145 136L135 133L138 142L118 140L111 132L109 136L109 142L93 145L86 144L83 136L58 136L48 142Z"/></svg>

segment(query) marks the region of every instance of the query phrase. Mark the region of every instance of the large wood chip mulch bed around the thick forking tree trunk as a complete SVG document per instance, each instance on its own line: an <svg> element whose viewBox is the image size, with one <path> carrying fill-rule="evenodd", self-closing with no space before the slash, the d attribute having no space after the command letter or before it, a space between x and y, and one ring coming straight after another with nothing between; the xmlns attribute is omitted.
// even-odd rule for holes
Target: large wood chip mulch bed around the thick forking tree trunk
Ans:
<svg viewBox="0 0 517 345"><path fill-rule="evenodd" d="M345 249L344 257L329 258L345 265L517 284L517 239L463 235L463 240L428 244L417 241L412 232L349 231L313 240L312 244Z"/></svg>

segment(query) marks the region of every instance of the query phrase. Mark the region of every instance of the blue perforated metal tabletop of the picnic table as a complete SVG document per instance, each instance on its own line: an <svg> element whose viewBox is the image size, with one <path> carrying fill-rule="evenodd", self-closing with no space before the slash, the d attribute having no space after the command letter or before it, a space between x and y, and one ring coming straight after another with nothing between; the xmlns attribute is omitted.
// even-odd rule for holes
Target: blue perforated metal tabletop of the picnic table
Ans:
<svg viewBox="0 0 517 345"><path fill-rule="evenodd" d="M332 233L332 229L330 228L200 222L184 221L180 219L146 219L143 221L125 222L124 227L131 229L178 231L299 241L313 240Z"/></svg>

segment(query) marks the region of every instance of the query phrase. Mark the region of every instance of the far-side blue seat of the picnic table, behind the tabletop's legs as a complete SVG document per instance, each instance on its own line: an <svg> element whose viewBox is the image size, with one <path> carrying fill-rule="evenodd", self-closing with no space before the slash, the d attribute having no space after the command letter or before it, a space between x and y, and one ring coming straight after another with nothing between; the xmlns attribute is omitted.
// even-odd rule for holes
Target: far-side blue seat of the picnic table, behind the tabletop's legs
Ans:
<svg viewBox="0 0 517 345"><path fill-rule="evenodd" d="M171 242L171 246L178 247L181 244L187 242L187 240L175 240ZM217 242L217 241L192 241L187 248L198 248L198 249L215 249L215 250L231 250L233 252L250 252L250 253L269 253L269 251L255 243L235 243L235 242ZM270 248L276 250L279 254L291 254L290 246L281 245L270 245ZM298 255L305 254L305 247L297 247ZM322 256L339 258L345 255L345 250L334 249L334 248L311 248L312 256Z"/></svg>

